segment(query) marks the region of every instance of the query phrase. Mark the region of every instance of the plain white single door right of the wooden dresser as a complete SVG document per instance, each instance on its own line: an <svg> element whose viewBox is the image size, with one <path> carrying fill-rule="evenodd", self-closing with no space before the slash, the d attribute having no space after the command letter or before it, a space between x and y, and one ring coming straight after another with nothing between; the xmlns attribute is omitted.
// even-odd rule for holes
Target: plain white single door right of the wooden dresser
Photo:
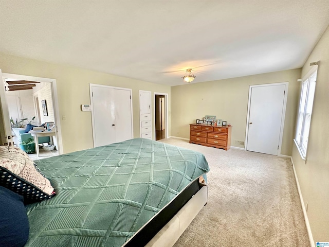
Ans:
<svg viewBox="0 0 329 247"><path fill-rule="evenodd" d="M250 86L247 150L278 155L286 84Z"/></svg>

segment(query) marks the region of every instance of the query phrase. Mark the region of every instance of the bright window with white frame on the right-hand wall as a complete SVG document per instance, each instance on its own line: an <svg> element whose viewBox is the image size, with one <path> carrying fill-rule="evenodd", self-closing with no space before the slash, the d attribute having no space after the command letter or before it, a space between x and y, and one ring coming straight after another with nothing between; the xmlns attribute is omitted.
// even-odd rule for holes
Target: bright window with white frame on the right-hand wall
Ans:
<svg viewBox="0 0 329 247"><path fill-rule="evenodd" d="M313 99L315 93L315 84L317 79L317 70L302 81L302 91L299 102L299 111L297 116L295 144L303 160L306 160L308 134L310 128L310 118L312 116Z"/></svg>

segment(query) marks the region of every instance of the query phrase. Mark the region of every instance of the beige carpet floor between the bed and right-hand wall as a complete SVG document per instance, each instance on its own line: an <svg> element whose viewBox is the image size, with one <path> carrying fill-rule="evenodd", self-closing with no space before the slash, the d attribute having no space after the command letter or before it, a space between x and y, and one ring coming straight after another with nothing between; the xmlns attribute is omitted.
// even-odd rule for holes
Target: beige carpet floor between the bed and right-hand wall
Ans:
<svg viewBox="0 0 329 247"><path fill-rule="evenodd" d="M210 167L208 203L175 247L310 246L289 158L160 141L202 152Z"/></svg>

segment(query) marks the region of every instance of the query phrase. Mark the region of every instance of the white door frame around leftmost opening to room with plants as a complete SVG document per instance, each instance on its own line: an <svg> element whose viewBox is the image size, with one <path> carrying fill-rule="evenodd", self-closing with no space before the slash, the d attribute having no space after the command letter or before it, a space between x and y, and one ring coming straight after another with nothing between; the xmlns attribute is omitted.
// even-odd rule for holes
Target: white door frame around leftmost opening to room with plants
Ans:
<svg viewBox="0 0 329 247"><path fill-rule="evenodd" d="M56 79L2 73L1 69L0 69L0 78L2 79L2 86L1 86L2 90L0 90L0 96L2 99L1 102L3 103L2 110L3 110L3 115L4 115L4 124L5 124L6 135L8 135L8 133L11 134L11 127L9 125L10 118L9 118L6 94L5 94L5 90L4 90L5 84L4 84L3 78L13 78L13 79L17 79L17 80L27 80L27 81L42 81L42 82L51 83L51 98L52 98L52 102L53 102L53 113L54 113L54 117L56 120L56 138L57 138L57 144L58 144L58 154L63 154L62 131L61 131L61 121L60 121L60 113L59 113ZM10 132L8 132L8 130Z"/></svg>

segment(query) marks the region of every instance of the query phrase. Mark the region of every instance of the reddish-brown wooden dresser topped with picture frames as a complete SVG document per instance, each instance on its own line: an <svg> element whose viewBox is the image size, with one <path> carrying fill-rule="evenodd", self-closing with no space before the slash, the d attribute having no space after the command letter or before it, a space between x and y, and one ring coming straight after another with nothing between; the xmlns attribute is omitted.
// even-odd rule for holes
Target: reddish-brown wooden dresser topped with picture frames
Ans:
<svg viewBox="0 0 329 247"><path fill-rule="evenodd" d="M228 150L231 147L231 126L190 124L190 143Z"/></svg>

